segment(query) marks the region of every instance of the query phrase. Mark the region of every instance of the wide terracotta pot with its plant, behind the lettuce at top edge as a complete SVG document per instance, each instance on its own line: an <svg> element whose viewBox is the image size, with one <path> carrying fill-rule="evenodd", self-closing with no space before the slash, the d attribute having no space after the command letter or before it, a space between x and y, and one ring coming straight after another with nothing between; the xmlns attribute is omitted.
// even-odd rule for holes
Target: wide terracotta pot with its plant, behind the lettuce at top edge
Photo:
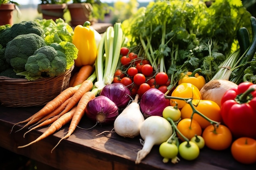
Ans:
<svg viewBox="0 0 256 170"><path fill-rule="evenodd" d="M70 0L41 0L38 4L38 13L43 14L44 19L56 20L63 18L64 12L67 9L67 2Z"/></svg>

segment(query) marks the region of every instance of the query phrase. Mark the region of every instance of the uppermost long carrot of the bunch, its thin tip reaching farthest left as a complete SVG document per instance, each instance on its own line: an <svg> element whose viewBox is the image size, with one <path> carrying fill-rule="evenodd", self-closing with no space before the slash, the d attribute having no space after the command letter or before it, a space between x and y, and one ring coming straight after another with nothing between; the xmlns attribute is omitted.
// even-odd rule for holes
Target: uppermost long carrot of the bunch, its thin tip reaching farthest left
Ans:
<svg viewBox="0 0 256 170"><path fill-rule="evenodd" d="M54 99L52 99L50 102L48 102L37 113L35 113L34 115L32 115L31 117L27 118L24 121L20 121L20 122L14 124L13 127L17 124L22 124L22 123L28 122L25 126L22 127L22 128L25 128L26 126L29 126L34 119L36 119L38 117L45 117L46 115L48 115L49 113L54 111L56 108L58 108L58 106L60 106L63 102L65 102L67 99L69 99L72 95L74 95L76 90L77 90L77 87L66 88L59 95L57 95ZM12 131L13 127L11 128L11 131Z"/></svg>

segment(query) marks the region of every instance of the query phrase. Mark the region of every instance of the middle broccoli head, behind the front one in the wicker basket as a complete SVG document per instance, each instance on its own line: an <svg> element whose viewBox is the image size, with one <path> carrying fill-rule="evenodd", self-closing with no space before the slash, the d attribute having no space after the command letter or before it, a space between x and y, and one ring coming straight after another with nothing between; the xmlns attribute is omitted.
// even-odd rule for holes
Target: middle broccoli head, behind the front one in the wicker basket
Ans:
<svg viewBox="0 0 256 170"><path fill-rule="evenodd" d="M37 34L18 35L7 43L4 56L17 73L22 72L25 71L28 57L42 46L45 46L45 41Z"/></svg>

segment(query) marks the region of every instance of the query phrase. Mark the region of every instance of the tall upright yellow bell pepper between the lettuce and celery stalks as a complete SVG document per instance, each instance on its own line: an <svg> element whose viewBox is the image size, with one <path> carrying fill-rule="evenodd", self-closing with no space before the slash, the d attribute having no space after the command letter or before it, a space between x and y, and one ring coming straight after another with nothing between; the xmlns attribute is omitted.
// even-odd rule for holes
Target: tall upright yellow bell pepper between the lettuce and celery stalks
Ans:
<svg viewBox="0 0 256 170"><path fill-rule="evenodd" d="M97 57L97 45L94 29L89 21L75 27L72 43L78 49L75 66L93 65Z"/></svg>

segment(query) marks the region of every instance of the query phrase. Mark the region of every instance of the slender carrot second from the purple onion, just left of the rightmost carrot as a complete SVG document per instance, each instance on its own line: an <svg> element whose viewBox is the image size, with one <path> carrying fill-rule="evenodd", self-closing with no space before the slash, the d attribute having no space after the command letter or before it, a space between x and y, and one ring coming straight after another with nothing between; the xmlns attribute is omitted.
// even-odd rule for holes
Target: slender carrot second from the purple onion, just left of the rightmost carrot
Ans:
<svg viewBox="0 0 256 170"><path fill-rule="evenodd" d="M37 141L45 139L49 135L52 135L54 132L56 132L56 130L59 130L62 126L67 124L67 122L69 122L72 119L75 111L76 111L76 107L72 108L72 110L70 110L70 112L67 112L66 114L62 115L59 119L54 121L53 124L51 126L49 126L49 128L45 132L43 132L43 134L40 135L36 140L30 142L27 145L18 146L18 148L25 148L31 144L36 143Z"/></svg>

